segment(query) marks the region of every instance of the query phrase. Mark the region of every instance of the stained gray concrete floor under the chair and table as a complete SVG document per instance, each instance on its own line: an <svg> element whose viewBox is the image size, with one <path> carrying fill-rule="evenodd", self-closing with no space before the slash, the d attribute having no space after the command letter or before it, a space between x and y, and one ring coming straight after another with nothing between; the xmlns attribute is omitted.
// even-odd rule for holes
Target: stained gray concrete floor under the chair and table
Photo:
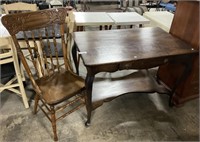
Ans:
<svg viewBox="0 0 200 142"><path fill-rule="evenodd" d="M85 74L82 68L81 75ZM29 84L29 83L27 83ZM30 108L20 97L1 93L0 142L53 141L51 124L39 111L33 115L33 92L26 86ZM199 100L181 107L169 107L167 95L157 93L126 94L97 108L92 125L85 127L86 110L72 113L59 121L62 142L138 142L199 141Z"/></svg>

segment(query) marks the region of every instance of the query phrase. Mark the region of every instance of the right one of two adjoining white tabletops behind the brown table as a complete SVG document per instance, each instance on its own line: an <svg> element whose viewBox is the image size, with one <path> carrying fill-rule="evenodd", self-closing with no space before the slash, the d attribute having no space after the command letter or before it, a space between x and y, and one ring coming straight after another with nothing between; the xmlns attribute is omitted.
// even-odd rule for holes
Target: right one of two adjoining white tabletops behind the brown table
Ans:
<svg viewBox="0 0 200 142"><path fill-rule="evenodd" d="M137 12L112 12L108 15L116 25L149 24L150 21Z"/></svg>

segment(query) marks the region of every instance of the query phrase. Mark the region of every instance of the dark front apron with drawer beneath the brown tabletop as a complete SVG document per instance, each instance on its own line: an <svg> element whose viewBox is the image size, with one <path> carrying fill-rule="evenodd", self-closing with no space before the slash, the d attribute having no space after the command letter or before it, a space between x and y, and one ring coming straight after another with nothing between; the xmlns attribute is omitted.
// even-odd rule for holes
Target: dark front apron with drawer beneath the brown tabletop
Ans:
<svg viewBox="0 0 200 142"><path fill-rule="evenodd" d="M158 67L166 63L177 63L183 64L188 62L192 54L187 55L178 55L178 56L169 56L169 57L158 57L158 58L149 58L142 60L134 60L120 63L104 64L97 66L87 66L87 72L90 75L95 75L99 72L115 72L118 70L129 70L129 69L150 69L153 67Z"/></svg>

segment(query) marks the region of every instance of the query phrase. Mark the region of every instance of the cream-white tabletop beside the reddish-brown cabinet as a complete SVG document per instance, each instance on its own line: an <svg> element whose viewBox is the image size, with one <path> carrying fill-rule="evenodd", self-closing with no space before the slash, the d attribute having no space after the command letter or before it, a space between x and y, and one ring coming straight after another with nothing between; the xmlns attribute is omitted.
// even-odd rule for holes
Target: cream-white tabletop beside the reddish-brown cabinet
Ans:
<svg viewBox="0 0 200 142"><path fill-rule="evenodd" d="M174 18L174 14L168 11L152 11L145 12L143 16L150 20L151 27L160 27L166 32L169 32Z"/></svg>

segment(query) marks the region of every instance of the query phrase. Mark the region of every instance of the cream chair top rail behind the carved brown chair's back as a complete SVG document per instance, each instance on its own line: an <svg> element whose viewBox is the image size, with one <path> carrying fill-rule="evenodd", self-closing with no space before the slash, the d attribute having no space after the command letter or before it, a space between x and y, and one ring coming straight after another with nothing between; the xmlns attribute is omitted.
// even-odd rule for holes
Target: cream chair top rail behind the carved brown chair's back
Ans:
<svg viewBox="0 0 200 142"><path fill-rule="evenodd" d="M4 4L3 7L6 14L20 13L23 11L36 11L38 9L36 4L29 4L23 2Z"/></svg>

